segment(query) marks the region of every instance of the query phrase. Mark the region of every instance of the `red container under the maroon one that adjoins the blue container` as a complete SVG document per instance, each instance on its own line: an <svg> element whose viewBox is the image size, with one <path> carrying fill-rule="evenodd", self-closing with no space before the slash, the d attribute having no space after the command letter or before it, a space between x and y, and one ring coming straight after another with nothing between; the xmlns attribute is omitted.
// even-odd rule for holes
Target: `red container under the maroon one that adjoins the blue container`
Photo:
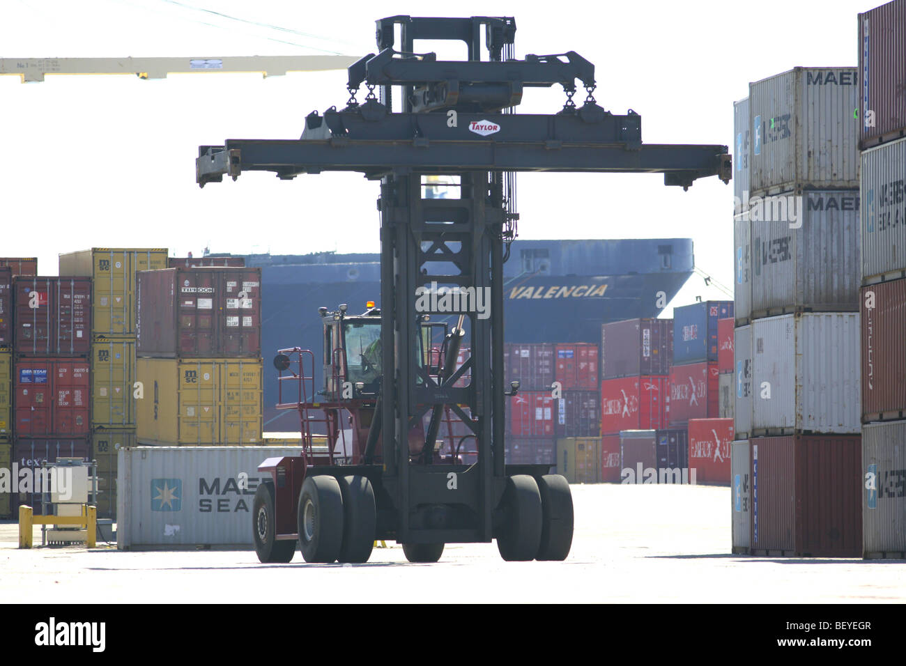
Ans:
<svg viewBox="0 0 906 666"><path fill-rule="evenodd" d="M670 419L670 378L622 377L601 382L601 434L658 430Z"/></svg>

